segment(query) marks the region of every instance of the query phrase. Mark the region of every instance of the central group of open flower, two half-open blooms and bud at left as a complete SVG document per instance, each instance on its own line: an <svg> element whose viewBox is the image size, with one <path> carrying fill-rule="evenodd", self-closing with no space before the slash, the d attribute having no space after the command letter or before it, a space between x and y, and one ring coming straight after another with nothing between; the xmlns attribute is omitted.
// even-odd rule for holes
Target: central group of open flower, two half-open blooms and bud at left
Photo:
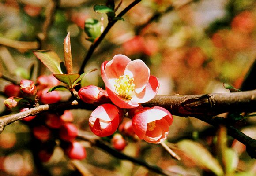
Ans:
<svg viewBox="0 0 256 176"><path fill-rule="evenodd" d="M172 115L162 107L141 106L153 99L159 88L158 79L150 75L147 65L139 59L132 61L125 55L115 55L102 63L101 76L106 90L89 85L78 92L84 102L101 104L90 115L91 131L105 137L119 127L149 143L164 141L173 122ZM131 121L121 124L126 112ZM131 125L126 127L128 123Z"/></svg>

